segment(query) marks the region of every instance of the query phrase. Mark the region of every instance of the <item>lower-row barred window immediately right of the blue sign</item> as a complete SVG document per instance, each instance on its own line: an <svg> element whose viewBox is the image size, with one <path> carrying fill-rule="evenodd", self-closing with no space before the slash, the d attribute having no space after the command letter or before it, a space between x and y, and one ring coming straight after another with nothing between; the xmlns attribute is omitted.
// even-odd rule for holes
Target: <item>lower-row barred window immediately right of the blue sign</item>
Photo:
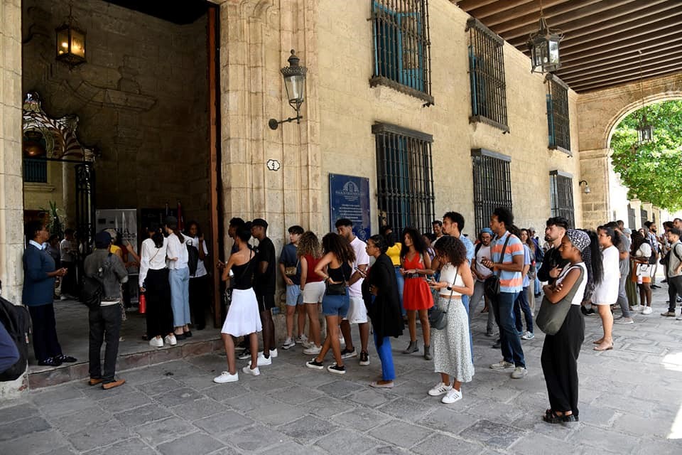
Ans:
<svg viewBox="0 0 682 455"><path fill-rule="evenodd" d="M396 127L372 125L377 142L377 205L379 225L396 232L410 226L431 230L433 221L433 163L431 134Z"/></svg>

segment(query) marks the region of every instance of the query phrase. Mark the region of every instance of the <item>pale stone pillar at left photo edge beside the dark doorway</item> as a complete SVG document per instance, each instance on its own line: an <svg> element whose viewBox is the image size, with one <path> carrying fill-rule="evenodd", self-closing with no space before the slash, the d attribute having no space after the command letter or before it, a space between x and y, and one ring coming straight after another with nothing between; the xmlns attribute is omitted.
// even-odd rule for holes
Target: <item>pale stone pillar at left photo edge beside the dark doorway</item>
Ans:
<svg viewBox="0 0 682 455"><path fill-rule="evenodd" d="M2 296L21 304L21 0L0 0L0 279ZM26 375L0 384L0 401L28 387Z"/></svg>

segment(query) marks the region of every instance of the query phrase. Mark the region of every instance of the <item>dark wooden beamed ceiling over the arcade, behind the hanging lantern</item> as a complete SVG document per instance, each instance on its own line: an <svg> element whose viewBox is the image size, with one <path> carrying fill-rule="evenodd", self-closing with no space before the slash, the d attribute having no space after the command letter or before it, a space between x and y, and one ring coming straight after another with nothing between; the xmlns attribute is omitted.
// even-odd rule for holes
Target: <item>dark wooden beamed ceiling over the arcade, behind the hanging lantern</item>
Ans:
<svg viewBox="0 0 682 455"><path fill-rule="evenodd" d="M530 55L539 0L451 1ZM640 51L644 79L682 73L680 0L543 0L542 9L549 28L564 34L556 75L576 92L639 80Z"/></svg>

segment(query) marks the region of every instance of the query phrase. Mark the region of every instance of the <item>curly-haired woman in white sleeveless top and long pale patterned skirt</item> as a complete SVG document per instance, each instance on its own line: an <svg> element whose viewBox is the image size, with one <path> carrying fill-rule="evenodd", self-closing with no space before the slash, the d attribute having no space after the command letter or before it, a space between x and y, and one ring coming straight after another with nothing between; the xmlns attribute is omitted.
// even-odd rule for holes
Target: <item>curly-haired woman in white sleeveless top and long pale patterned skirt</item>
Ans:
<svg viewBox="0 0 682 455"><path fill-rule="evenodd" d="M440 237L435 244L435 257L444 264L440 282L429 285L438 289L438 308L448 311L448 323L443 330L431 331L433 363L440 373L440 382L428 395L445 395L440 402L454 403L462 399L462 382L470 382L474 375L469 341L469 316L462 304L462 295L474 293L474 279L467 262L467 250L457 237ZM452 378L450 378L452 377Z"/></svg>

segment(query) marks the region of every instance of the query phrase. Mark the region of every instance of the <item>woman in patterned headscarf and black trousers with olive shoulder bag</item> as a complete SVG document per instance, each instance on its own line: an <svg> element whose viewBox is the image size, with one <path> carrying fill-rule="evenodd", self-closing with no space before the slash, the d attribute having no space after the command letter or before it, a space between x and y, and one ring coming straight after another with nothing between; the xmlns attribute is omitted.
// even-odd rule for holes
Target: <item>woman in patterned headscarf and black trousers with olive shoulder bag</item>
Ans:
<svg viewBox="0 0 682 455"><path fill-rule="evenodd" d="M591 253L595 258L587 267L583 257ZM587 232L569 229L561 240L559 253L568 264L554 284L543 287L546 299L556 304L575 290L568 315L554 335L545 336L542 346L542 372L547 385L550 408L543 420L551 424L578 421L578 354L585 339L585 319L580 312L588 275L595 274L595 282L602 278L599 242L590 240ZM590 272L591 271L591 272Z"/></svg>

